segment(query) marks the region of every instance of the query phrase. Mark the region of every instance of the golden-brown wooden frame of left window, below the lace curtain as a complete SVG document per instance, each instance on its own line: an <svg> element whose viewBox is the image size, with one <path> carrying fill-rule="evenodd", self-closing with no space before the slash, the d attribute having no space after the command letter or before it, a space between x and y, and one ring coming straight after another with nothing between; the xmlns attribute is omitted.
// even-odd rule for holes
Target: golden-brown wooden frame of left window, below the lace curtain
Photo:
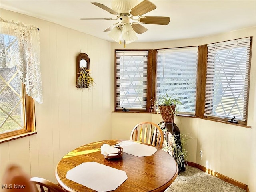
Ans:
<svg viewBox="0 0 256 192"><path fill-rule="evenodd" d="M35 122L35 106L34 99L26 94L25 85L22 83L22 103L23 103L23 119L24 127L20 130L14 130L0 134L0 142L6 142L19 138L20 135L26 136L28 133L36 133L36 122ZM23 136L22 136L23 137ZM9 138L9 139L8 139Z"/></svg>

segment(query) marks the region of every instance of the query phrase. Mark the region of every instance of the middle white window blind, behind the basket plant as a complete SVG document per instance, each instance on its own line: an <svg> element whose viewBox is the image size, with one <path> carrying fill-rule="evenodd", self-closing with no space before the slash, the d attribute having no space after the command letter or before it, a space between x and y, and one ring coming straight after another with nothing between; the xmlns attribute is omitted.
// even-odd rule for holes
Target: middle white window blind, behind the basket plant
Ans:
<svg viewBox="0 0 256 192"><path fill-rule="evenodd" d="M181 113L195 114L198 47L157 50L156 99L180 97Z"/></svg>

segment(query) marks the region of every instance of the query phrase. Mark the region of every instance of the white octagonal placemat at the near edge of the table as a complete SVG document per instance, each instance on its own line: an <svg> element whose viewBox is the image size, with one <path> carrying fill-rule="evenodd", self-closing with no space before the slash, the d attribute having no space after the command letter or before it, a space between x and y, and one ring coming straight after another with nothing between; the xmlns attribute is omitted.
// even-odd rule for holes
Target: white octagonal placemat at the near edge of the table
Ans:
<svg viewBox="0 0 256 192"><path fill-rule="evenodd" d="M116 190L128 177L122 170L97 162L86 162L69 170L66 178L98 192L105 192Z"/></svg>

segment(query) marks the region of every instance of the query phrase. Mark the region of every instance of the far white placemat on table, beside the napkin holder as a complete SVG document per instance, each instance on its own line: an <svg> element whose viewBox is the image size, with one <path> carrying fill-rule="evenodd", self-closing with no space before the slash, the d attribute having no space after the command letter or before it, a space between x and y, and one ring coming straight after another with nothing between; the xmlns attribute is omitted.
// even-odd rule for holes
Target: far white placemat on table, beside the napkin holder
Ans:
<svg viewBox="0 0 256 192"><path fill-rule="evenodd" d="M124 153L135 155L137 157L151 156L157 152L154 146L140 144L134 141L122 141L118 143L123 148Z"/></svg>

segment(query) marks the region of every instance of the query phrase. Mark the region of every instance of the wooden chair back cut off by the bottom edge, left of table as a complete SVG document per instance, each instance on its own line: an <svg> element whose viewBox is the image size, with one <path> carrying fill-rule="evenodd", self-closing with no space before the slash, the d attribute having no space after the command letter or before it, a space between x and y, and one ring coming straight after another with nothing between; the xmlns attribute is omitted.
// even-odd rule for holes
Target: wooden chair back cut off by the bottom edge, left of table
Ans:
<svg viewBox="0 0 256 192"><path fill-rule="evenodd" d="M40 177L32 177L30 181L35 185L37 192L39 192L37 185L40 186L40 192L66 192L60 186Z"/></svg>

